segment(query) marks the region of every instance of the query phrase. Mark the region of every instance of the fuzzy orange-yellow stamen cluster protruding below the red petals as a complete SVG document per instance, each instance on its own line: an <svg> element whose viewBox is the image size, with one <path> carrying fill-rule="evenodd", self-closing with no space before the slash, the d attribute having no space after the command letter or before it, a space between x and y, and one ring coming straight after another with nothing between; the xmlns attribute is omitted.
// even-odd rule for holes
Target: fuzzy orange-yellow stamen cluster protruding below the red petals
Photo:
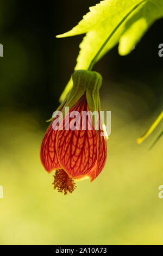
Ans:
<svg viewBox="0 0 163 256"><path fill-rule="evenodd" d="M58 192L64 191L64 194L72 193L77 187L74 180L63 169L56 170L53 185L54 190L57 188Z"/></svg>

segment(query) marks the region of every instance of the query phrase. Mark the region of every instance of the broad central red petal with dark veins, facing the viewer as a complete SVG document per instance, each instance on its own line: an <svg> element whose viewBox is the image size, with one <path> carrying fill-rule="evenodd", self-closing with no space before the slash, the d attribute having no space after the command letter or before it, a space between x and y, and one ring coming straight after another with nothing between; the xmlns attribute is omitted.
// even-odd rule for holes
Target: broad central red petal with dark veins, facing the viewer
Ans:
<svg viewBox="0 0 163 256"><path fill-rule="evenodd" d="M82 111L89 110L87 107L86 96L83 95L80 100L72 107L72 111L80 113L80 125L82 126ZM69 127L67 114L63 120L63 127ZM77 121L76 127L80 127ZM71 118L70 118L71 123ZM86 126L89 121L86 120ZM93 127L92 130L58 130L57 133L57 155L59 162L64 170L72 177L86 175L97 160L97 135Z"/></svg>

